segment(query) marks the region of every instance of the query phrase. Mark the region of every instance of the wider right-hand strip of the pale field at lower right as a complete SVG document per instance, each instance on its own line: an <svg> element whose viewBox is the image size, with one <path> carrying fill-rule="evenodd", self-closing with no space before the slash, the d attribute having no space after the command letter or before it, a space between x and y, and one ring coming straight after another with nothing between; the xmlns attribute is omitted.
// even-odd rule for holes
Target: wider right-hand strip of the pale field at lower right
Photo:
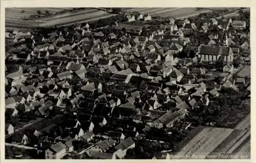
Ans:
<svg viewBox="0 0 256 163"><path fill-rule="evenodd" d="M215 130L212 131L214 133L210 134L210 139L207 140L207 143L203 144L194 154L207 157L207 155L218 147L218 145L225 140L232 131L233 129L215 128Z"/></svg>

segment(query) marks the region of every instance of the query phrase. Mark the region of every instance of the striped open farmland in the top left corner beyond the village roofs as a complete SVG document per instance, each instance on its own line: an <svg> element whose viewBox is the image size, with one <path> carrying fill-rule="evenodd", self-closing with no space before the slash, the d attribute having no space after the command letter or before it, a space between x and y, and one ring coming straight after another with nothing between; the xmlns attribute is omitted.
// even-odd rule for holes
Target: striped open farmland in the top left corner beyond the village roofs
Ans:
<svg viewBox="0 0 256 163"><path fill-rule="evenodd" d="M110 15L104 11L92 8L59 14L59 12L71 9L72 8L7 8L5 15L6 28L32 28L39 24L39 26L61 25L95 17L102 18L100 16ZM38 11L40 11L42 15L44 15L46 11L49 11L52 15L29 20L32 15L38 15Z"/></svg>

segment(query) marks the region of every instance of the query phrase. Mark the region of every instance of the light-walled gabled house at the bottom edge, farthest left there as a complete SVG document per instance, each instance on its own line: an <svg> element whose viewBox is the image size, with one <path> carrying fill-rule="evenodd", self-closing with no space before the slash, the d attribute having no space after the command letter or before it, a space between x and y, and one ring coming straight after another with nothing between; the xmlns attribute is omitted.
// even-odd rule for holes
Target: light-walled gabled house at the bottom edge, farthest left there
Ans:
<svg viewBox="0 0 256 163"><path fill-rule="evenodd" d="M66 155L66 146L58 142L45 151L46 159L60 159Z"/></svg>

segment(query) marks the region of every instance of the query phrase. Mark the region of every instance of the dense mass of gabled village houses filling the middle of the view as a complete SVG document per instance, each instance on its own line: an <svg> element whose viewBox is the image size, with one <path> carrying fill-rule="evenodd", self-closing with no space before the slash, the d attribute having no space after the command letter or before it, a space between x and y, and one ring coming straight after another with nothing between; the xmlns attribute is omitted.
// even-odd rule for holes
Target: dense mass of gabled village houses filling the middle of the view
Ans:
<svg viewBox="0 0 256 163"><path fill-rule="evenodd" d="M143 16L137 19L127 16L129 22ZM150 15L144 20L151 20ZM37 147L46 159L72 153L72 142L77 140L88 145L84 149L88 158L124 158L146 128L169 130L198 103L208 105L222 88L239 91L237 85L245 85L245 77L198 83L209 70L193 66L223 59L227 61L223 71L233 71L234 55L249 49L249 44L230 47L234 34L228 32L229 24L245 28L243 21L212 18L202 19L202 25L170 19L156 31L127 28L117 33L120 26L113 24L110 33L103 33L87 24L46 36L6 33L6 39L20 44L6 55L7 60L20 63L16 72L6 74L6 117L37 117L24 126L6 123L6 139ZM210 34L209 43L198 47L195 58L180 59L189 34L206 33L211 25L223 36Z"/></svg>

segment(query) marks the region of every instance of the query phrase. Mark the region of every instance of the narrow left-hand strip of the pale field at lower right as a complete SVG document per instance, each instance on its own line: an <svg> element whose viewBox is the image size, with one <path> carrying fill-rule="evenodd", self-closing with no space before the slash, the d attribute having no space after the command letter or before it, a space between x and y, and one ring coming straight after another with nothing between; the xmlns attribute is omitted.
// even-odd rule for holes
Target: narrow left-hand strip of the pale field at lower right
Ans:
<svg viewBox="0 0 256 163"><path fill-rule="evenodd" d="M200 133L198 133L196 135L196 137L194 137L192 140L190 140L183 148L180 152L177 153L177 155L185 155L191 147L194 147L195 142L199 142L200 140L202 140L202 135L205 135L207 133L209 133L209 131L212 128L204 128Z"/></svg>

